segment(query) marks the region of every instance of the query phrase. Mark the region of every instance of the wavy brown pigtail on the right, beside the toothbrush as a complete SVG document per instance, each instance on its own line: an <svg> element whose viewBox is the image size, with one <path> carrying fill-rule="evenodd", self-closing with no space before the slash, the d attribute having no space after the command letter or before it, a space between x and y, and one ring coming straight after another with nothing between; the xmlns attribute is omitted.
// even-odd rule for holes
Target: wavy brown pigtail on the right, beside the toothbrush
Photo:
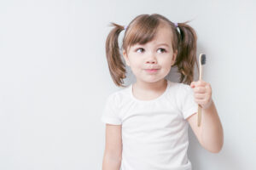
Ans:
<svg viewBox="0 0 256 170"><path fill-rule="evenodd" d="M185 23L178 23L179 32L177 46L177 69L181 73L180 82L190 84L194 81L194 65L196 62L196 41L195 30ZM198 69L199 70L199 69Z"/></svg>

